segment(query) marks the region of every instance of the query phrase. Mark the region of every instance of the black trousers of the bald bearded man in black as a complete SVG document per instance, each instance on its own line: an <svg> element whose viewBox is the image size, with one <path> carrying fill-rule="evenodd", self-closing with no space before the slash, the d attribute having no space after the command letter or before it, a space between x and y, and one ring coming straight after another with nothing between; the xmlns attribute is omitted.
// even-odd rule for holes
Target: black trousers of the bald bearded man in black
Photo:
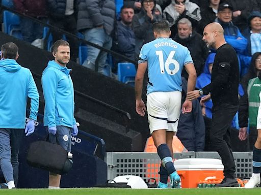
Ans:
<svg viewBox="0 0 261 195"><path fill-rule="evenodd" d="M230 126L238 106L221 104L213 107L210 131L211 146L217 151L224 165L224 176L236 178L236 166L230 144Z"/></svg>

